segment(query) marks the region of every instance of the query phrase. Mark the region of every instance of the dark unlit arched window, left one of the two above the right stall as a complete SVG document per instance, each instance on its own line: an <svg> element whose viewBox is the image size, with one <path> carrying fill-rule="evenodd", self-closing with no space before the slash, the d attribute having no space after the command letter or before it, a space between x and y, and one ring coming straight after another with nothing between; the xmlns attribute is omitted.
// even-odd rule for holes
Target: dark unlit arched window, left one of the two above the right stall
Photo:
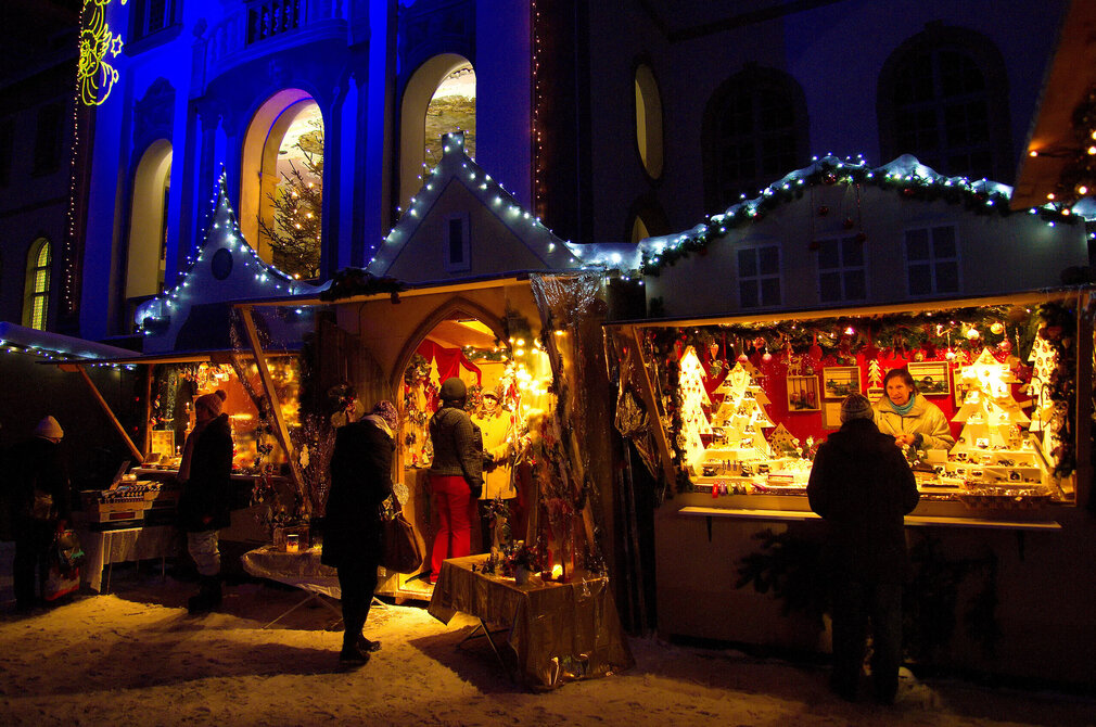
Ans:
<svg viewBox="0 0 1096 727"><path fill-rule="evenodd" d="M783 71L747 67L723 82L704 112L705 205L721 212L802 167L803 90Z"/></svg>

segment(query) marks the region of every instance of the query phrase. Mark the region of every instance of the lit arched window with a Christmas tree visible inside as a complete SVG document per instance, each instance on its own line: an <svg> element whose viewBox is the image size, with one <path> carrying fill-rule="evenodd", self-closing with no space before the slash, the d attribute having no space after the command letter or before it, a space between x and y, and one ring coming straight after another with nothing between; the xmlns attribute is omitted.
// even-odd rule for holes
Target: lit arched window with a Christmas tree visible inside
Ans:
<svg viewBox="0 0 1096 727"><path fill-rule="evenodd" d="M295 277L320 274L323 116L305 91L264 103L243 145L240 231L259 257Z"/></svg>

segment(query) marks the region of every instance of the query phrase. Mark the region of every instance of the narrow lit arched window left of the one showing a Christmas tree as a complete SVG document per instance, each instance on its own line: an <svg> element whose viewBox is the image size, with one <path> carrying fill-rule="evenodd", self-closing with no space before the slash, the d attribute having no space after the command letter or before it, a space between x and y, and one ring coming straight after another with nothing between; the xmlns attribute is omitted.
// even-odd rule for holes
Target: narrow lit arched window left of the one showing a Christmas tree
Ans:
<svg viewBox="0 0 1096 727"><path fill-rule="evenodd" d="M158 139L141 155L134 174L126 262L127 298L156 295L163 291L170 190L171 143Z"/></svg>

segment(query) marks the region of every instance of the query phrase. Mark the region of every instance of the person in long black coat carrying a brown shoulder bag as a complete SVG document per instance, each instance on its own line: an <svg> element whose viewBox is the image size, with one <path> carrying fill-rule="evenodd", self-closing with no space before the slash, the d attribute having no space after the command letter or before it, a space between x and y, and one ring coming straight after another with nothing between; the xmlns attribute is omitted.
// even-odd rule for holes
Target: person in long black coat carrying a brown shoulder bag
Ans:
<svg viewBox="0 0 1096 727"><path fill-rule="evenodd" d="M385 549L380 506L392 492L398 427L396 407L379 401L368 416L335 434L320 563L339 571L343 612L339 660L344 663L365 663L369 651L380 648L379 641L362 636L362 627L369 616Z"/></svg>

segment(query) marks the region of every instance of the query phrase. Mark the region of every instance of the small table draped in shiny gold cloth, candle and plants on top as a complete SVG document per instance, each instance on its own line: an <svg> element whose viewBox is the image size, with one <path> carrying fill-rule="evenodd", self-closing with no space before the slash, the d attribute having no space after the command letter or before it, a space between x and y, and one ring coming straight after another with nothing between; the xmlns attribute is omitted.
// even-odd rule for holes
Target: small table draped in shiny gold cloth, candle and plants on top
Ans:
<svg viewBox="0 0 1096 727"><path fill-rule="evenodd" d="M513 578L479 570L487 555L450 558L442 564L429 612L449 623L456 612L479 620L495 649L489 625L501 626L517 657L517 670L534 689L605 677L635 664L617 615L608 578L576 575L568 583ZM476 570L472 570L476 566ZM500 657L501 660L501 657Z"/></svg>

